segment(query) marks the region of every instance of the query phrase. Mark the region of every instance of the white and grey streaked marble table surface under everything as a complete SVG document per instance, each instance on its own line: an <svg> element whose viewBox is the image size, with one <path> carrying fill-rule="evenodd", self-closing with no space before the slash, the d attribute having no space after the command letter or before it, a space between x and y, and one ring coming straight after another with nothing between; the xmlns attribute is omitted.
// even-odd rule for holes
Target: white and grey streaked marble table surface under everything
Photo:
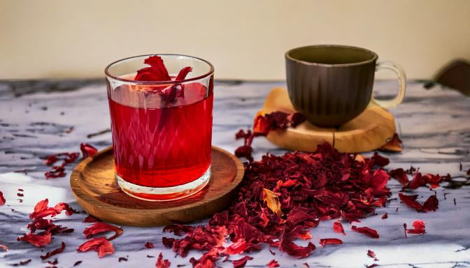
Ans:
<svg viewBox="0 0 470 268"><path fill-rule="evenodd" d="M213 144L234 151L240 141L234 140L239 128L247 128L261 107L264 96L273 87L285 86L285 82L216 82L213 112ZM379 96L390 96L397 88L396 82L379 81L375 84ZM404 142L401 154L385 154L391 163L387 168L420 168L421 172L450 174L453 183L436 188L439 209L436 212L418 213L400 203L397 193L400 186L390 181L392 200L387 207L377 209L378 215L364 218L359 226L378 230L380 239L371 239L350 231L343 224L346 236L332 231L332 221L321 222L312 230L313 243L318 249L305 259L294 259L267 248L250 254L254 260L246 267L265 267L271 259L280 267L364 267L377 263L381 267L470 267L470 183L465 174L470 168L470 98L439 85L425 88L422 82L410 81L405 101L391 112L396 117L397 131ZM0 191L6 204L0 207L0 267L21 260L32 259L27 267L46 267L39 258L44 252L57 248L65 241L64 253L57 255L57 267L155 267L157 256L163 252L172 267L191 267L189 259L199 258L201 253L191 251L187 258L175 258L171 250L162 245L162 228L133 228L124 226L124 234L113 240L115 253L98 258L97 253L77 253L76 248L85 241L82 231L89 223L82 223L86 214L70 217L58 216L58 224L74 228L71 234L55 236L43 249L16 237L26 231L28 214L34 204L44 198L50 203L68 202L80 207L69 188L69 174L73 165L67 166L67 177L45 179L47 167L41 157L62 151L79 151L80 142L88 142L99 149L111 145L111 133L87 137L99 133L110 125L106 88L103 80L22 80L0 82ZM253 144L255 159L269 151L283 154L283 150L264 138ZM24 189L24 197L17 196L17 189ZM431 191L421 187L415 191L429 196ZM20 202L20 200L22 202ZM455 200L455 202L454 202ZM12 211L14 209L15 211ZM386 220L380 215L387 212ZM427 223L426 234L404 238L403 224L421 219ZM205 221L201 221L204 223ZM170 234L171 235L171 234ZM318 239L339 237L341 246L318 245ZM155 248L144 247L146 241ZM368 249L375 251L378 261L368 258ZM127 262L118 262L126 257ZM232 260L238 259L232 256ZM53 258L52 258L53 259ZM229 262L222 267L232 267Z"/></svg>

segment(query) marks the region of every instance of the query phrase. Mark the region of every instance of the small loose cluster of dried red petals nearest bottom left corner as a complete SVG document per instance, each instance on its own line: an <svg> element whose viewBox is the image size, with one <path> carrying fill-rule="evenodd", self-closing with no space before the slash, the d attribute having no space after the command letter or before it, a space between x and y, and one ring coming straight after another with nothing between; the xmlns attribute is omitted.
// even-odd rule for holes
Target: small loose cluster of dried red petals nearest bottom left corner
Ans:
<svg viewBox="0 0 470 268"><path fill-rule="evenodd" d="M45 219L45 217L50 216L53 218L64 210L66 211L65 214L67 216L77 213L78 211L73 210L69 207L69 204L66 203L58 203L55 207L48 207L48 204L48 199L42 200L36 204L34 212L29 214L29 218L33 219L33 222L27 225L30 232L28 234L24 234L22 237L17 237L18 241L27 241L29 244L33 244L34 246L45 246L50 244L52 234L73 232L73 229L62 227L61 225L55 225L52 223L52 219ZM36 230L43 231L35 234L34 232L36 232Z"/></svg>

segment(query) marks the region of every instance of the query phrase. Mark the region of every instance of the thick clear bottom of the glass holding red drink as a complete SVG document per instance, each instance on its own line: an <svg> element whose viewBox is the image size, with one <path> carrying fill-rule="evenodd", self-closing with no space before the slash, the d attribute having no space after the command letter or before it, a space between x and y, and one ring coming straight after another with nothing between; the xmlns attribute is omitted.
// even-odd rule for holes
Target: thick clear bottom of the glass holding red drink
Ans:
<svg viewBox="0 0 470 268"><path fill-rule="evenodd" d="M202 188L208 184L210 178L211 166L209 166L206 172L204 172L199 179L195 179L187 184L172 187L147 187L131 184L116 174L118 185L124 193L131 195L133 198L148 201L170 201L187 198L188 196L201 191Z"/></svg>

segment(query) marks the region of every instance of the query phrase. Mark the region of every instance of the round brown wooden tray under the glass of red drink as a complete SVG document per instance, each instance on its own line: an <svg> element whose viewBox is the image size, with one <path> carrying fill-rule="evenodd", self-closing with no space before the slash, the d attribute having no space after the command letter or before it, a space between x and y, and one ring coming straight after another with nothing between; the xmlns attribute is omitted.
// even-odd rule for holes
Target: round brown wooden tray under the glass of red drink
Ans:
<svg viewBox="0 0 470 268"><path fill-rule="evenodd" d="M70 185L78 204L94 217L132 226L190 223L212 216L227 207L243 179L243 164L233 154L212 147L211 179L206 187L188 198L152 202L131 198L116 183L113 148L80 162Z"/></svg>

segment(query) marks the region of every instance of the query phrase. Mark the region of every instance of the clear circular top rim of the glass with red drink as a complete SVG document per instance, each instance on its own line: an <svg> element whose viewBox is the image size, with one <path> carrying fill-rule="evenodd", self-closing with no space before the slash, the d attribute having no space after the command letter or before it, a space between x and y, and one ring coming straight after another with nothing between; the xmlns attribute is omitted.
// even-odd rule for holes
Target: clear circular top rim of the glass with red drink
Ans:
<svg viewBox="0 0 470 268"><path fill-rule="evenodd" d="M209 71L207 73L204 73L204 75L199 75L197 77L191 77L191 78L187 78L187 79L184 79L184 80L178 80L178 81L176 81L176 80L169 80L169 81L136 81L136 80L129 80L129 79L124 79L122 77L115 76L115 75L111 75L111 73L109 72L109 68L111 68L111 66L113 66L115 64L119 64L122 61L126 61L126 60L129 60L129 59L134 59L134 58L139 58L139 57L151 57L151 56L183 56L183 57L188 57L188 58L192 58L192 59L198 59L199 61L205 62L209 66ZM169 53L169 54L166 54L166 53L143 54L143 55L138 55L138 56L127 57L127 58L124 58L124 59L118 59L117 61L111 62L111 64L108 64L108 66L106 66L106 68L104 68L104 74L106 75L106 77L111 77L114 80L118 80L118 81L126 82L126 83L131 83L131 84L183 84L185 82L201 80L201 79L206 78L210 75L213 75L213 73L214 73L214 66L209 61L206 61L205 59L201 59L201 58L198 58L198 57L185 55L185 54L171 54L171 53Z"/></svg>

